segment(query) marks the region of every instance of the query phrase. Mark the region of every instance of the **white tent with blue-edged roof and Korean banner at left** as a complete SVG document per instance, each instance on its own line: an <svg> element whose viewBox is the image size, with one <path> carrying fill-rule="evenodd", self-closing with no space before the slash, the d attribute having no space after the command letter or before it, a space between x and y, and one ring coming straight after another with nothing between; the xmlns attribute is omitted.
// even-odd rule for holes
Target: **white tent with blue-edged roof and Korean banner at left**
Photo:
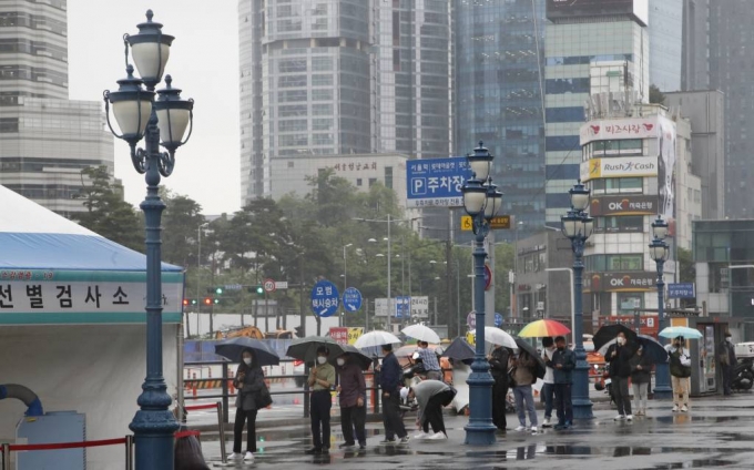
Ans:
<svg viewBox="0 0 754 470"><path fill-rule="evenodd" d="M146 257L0 186L0 384L33 390L45 411L86 415L86 437L131 433L145 376ZM163 265L163 364L179 385L183 272ZM0 400L0 442L26 407ZM120 447L90 467L123 468Z"/></svg>

